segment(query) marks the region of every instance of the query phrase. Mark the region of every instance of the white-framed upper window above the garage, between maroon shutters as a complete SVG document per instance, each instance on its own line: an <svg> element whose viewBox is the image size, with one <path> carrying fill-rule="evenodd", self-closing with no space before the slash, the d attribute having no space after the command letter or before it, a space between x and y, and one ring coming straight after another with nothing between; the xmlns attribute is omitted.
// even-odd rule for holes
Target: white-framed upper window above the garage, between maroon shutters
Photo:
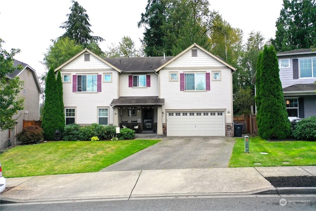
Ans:
<svg viewBox="0 0 316 211"><path fill-rule="evenodd" d="M186 73L185 90L205 90L205 73Z"/></svg>

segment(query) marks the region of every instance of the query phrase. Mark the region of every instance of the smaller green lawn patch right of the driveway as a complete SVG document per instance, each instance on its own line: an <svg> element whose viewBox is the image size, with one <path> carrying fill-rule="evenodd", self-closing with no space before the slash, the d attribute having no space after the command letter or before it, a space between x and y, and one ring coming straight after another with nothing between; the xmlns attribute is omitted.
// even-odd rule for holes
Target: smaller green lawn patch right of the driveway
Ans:
<svg viewBox="0 0 316 211"><path fill-rule="evenodd" d="M260 154L260 152L266 152L268 155ZM315 141L266 141L260 137L249 138L248 154L244 153L244 139L236 138L236 143L229 163L229 167L315 165Z"/></svg>

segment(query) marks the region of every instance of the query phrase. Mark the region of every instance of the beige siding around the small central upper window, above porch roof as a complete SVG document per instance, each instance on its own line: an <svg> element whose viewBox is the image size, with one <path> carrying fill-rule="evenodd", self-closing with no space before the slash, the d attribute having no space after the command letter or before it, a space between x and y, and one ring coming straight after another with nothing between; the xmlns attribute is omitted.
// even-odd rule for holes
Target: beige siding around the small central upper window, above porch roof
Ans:
<svg viewBox="0 0 316 211"><path fill-rule="evenodd" d="M158 96L158 75L155 73L149 73L150 75L150 87L128 87L129 75L144 75L144 74L126 74L123 73L119 76L119 96L120 97L139 97L139 96Z"/></svg>

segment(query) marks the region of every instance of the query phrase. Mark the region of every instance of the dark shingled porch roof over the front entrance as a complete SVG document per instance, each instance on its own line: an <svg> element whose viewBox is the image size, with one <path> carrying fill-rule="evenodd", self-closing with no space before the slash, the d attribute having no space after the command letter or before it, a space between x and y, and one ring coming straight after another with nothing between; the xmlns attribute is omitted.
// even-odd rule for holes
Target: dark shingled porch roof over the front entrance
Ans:
<svg viewBox="0 0 316 211"><path fill-rule="evenodd" d="M154 97L119 97L118 99L113 99L111 106L123 106L123 105L163 105L164 99Z"/></svg>

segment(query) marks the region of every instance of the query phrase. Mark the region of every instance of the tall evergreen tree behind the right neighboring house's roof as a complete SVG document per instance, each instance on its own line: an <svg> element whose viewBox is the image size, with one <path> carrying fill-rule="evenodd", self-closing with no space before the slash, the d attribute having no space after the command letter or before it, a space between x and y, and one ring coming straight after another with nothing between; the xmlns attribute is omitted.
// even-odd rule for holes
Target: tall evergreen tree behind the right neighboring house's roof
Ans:
<svg viewBox="0 0 316 211"><path fill-rule="evenodd" d="M316 0L283 0L276 21L277 51L310 48L316 45Z"/></svg>

